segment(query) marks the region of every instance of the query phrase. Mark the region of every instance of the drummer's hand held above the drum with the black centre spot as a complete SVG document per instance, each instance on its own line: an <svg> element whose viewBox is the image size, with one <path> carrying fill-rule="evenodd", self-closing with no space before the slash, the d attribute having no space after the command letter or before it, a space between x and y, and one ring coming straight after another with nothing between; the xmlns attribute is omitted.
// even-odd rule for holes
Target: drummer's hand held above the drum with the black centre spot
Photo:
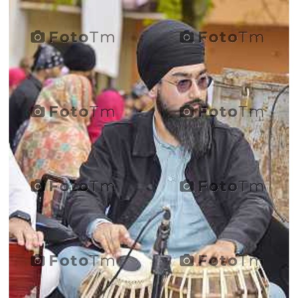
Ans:
<svg viewBox="0 0 298 298"><path fill-rule="evenodd" d="M128 230L122 224L99 224L93 232L93 239L101 244L106 253L116 257L120 251L120 244L125 244L128 247L132 247L134 244ZM137 243L134 248L140 249L141 244Z"/></svg>

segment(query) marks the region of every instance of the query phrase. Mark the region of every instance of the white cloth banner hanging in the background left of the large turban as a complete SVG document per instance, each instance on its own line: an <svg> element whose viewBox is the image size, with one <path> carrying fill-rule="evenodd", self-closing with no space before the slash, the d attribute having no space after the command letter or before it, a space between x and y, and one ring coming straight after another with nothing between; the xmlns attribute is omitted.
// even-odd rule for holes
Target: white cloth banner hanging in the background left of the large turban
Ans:
<svg viewBox="0 0 298 298"><path fill-rule="evenodd" d="M121 0L84 0L82 1L82 33L88 36L87 43L96 53L95 71L113 78L119 73L119 60L122 34ZM97 31L98 33L90 33ZM102 34L113 34L107 37ZM95 42L93 42L93 36ZM102 40L102 41L101 41Z"/></svg>

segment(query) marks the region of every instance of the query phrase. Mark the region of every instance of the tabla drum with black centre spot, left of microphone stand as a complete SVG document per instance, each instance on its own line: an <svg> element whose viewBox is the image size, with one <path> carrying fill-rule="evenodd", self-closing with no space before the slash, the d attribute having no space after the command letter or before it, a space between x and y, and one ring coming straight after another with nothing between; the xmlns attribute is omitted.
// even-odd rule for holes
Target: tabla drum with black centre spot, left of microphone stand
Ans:
<svg viewBox="0 0 298 298"><path fill-rule="evenodd" d="M133 250L117 279L102 295L108 282L118 271L129 249L121 248L116 260L102 254L97 264L82 281L79 292L82 298L150 298L152 291L151 260L142 252Z"/></svg>

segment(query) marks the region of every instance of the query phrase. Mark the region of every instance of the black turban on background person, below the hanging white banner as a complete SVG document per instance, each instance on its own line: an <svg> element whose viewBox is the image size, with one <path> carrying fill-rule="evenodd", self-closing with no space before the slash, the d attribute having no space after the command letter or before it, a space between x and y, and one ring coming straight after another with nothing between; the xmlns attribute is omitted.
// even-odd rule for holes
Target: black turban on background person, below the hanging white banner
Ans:
<svg viewBox="0 0 298 298"><path fill-rule="evenodd" d="M64 64L71 71L90 71L94 68L95 62L94 50L80 42L73 43L64 54Z"/></svg>

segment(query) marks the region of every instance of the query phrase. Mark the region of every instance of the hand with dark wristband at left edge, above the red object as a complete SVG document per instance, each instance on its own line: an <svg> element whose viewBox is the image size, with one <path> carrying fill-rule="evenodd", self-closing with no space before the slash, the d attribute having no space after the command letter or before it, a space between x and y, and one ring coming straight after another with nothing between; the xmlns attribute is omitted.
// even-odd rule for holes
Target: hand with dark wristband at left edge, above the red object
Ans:
<svg viewBox="0 0 298 298"><path fill-rule="evenodd" d="M16 238L18 245L25 245L28 250L41 246L44 240L42 232L35 231L29 223L17 218L9 220L9 235Z"/></svg>

